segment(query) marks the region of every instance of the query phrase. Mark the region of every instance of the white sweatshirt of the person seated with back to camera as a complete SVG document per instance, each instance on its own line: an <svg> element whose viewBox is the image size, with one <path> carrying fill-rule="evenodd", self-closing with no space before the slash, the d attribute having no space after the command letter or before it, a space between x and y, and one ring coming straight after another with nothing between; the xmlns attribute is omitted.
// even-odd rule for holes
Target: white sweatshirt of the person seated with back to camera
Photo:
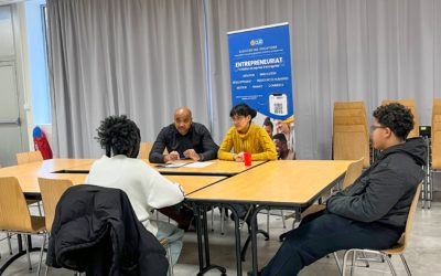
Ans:
<svg viewBox="0 0 441 276"><path fill-rule="evenodd" d="M151 221L152 210L174 205L184 200L178 183L162 177L140 159L127 156L103 156L94 162L87 184L121 189L129 197L138 220L157 235L158 226Z"/></svg>

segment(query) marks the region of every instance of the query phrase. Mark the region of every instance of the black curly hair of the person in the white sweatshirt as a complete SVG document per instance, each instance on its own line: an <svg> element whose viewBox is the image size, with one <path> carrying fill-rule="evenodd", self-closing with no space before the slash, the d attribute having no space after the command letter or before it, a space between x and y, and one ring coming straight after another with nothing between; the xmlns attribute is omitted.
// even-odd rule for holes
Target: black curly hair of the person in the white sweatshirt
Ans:
<svg viewBox="0 0 441 276"><path fill-rule="evenodd" d="M136 158L139 153L141 134L135 121L126 115L114 115L101 120L95 137L106 150L106 156L125 155Z"/></svg>

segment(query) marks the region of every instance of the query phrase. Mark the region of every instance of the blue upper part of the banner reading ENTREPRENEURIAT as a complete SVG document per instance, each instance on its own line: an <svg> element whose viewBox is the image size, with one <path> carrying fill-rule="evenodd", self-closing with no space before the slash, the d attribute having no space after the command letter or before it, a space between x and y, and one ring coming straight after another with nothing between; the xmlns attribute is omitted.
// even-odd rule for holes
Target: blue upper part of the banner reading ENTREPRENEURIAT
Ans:
<svg viewBox="0 0 441 276"><path fill-rule="evenodd" d="M288 23L228 32L233 105L275 119L294 115Z"/></svg>

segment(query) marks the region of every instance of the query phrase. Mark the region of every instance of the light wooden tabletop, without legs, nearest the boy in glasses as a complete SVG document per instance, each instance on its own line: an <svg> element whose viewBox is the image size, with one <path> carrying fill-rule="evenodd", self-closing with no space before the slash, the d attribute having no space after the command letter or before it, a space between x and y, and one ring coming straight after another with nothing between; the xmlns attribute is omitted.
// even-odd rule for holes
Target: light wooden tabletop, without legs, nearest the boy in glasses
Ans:
<svg viewBox="0 0 441 276"><path fill-rule="evenodd" d="M308 206L344 176L346 160L279 160L193 193L192 201Z"/></svg>

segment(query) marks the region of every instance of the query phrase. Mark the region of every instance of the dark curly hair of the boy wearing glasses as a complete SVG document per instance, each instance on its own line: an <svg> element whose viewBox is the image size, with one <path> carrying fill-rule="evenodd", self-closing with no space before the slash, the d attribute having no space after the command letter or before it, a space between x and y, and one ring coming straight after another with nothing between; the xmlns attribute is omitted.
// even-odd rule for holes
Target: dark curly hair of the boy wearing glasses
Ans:
<svg viewBox="0 0 441 276"><path fill-rule="evenodd" d="M391 103L377 107L373 114L374 118L390 130L402 141L406 140L410 130L413 129L413 115L406 106Z"/></svg>

